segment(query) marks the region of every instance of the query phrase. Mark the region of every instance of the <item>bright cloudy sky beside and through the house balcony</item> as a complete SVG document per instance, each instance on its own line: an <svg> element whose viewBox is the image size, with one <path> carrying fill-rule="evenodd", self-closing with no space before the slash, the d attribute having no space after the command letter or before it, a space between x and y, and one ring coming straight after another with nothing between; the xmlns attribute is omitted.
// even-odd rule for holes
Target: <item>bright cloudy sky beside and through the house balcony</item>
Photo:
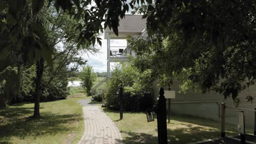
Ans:
<svg viewBox="0 0 256 144"><path fill-rule="evenodd" d="M88 60L88 64L92 65L94 72L107 72L107 40L104 39L104 35L101 35L102 46L98 45L98 52L96 55L88 53L88 55L83 54L82 57ZM126 40L110 40L111 46L126 46ZM112 68L114 63L111 63L110 67Z"/></svg>

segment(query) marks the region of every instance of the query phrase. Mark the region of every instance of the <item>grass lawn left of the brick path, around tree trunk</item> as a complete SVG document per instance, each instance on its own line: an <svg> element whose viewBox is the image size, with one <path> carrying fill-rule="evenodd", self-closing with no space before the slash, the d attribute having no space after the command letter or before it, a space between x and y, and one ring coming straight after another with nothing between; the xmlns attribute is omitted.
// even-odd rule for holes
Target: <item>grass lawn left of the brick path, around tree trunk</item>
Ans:
<svg viewBox="0 0 256 144"><path fill-rule="evenodd" d="M78 99L40 103L41 118L32 119L33 104L0 110L0 143L77 143L84 133Z"/></svg>

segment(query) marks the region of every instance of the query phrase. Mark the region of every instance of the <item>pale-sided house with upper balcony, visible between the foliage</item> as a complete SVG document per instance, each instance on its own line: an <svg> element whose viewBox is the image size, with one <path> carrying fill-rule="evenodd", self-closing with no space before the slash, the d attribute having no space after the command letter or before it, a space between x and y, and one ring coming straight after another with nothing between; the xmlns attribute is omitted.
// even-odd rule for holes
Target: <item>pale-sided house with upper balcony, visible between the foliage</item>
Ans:
<svg viewBox="0 0 256 144"><path fill-rule="evenodd" d="M110 63L117 61L123 62L127 61L127 55L136 56L136 53L131 51L129 48L124 47L112 47L110 45L111 39L126 39L128 35L133 35L133 37L147 37L146 29L146 20L142 19L141 15L126 15L125 19L120 20L119 23L119 35L118 37L110 31L110 29L105 29L104 38L108 40L108 53L107 53L107 71L108 77L110 77ZM118 50L117 50L118 48ZM123 49L123 50L120 50ZM156 87L156 83L154 82L154 97L158 97L159 88ZM176 98L171 99L171 112L176 115L190 115L196 117L210 118L220 120L221 107L220 104L225 102L226 105L232 106L233 101L231 98L224 100L224 96L215 92L210 93L193 93L188 92L186 94L178 93L180 82L177 80L173 81L173 85L171 85L171 90L176 91ZM165 89L167 90L167 88ZM240 108L251 109L254 110L256 108L256 102L253 103L246 101L247 95L256 95L256 86L252 86L246 91L240 93L241 103L239 105ZM238 121L238 111L234 109L226 109L226 122L236 124ZM245 111L246 116L246 127L253 128L254 125L254 112L253 111Z"/></svg>

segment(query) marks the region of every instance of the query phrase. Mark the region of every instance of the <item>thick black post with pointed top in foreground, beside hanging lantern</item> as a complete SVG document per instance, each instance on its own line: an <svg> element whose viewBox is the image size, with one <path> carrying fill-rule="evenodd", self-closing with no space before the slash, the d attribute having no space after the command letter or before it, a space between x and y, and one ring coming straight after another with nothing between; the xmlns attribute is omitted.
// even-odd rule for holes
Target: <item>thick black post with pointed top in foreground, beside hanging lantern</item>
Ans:
<svg viewBox="0 0 256 144"><path fill-rule="evenodd" d="M164 88L160 88L158 99L158 143L167 144L166 99Z"/></svg>

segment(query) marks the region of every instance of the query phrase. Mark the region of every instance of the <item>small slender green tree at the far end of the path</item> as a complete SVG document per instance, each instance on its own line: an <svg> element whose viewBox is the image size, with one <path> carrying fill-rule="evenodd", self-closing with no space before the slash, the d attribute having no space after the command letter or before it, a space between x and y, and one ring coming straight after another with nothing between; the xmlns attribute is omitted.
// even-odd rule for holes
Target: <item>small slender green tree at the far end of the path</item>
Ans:
<svg viewBox="0 0 256 144"><path fill-rule="evenodd" d="M94 73L91 65L83 67L83 70L80 73L80 79L82 80L81 85L85 88L88 97L91 95L91 88L94 86L96 78L97 75Z"/></svg>

